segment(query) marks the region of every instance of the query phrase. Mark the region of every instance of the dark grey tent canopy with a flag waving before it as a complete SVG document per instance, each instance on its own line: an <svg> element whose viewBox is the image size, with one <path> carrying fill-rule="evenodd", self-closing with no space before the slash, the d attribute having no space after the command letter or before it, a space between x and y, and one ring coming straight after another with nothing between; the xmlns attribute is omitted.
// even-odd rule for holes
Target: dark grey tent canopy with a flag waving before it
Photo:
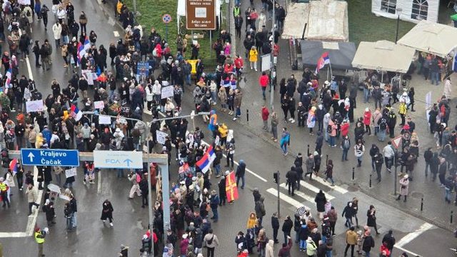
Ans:
<svg viewBox="0 0 457 257"><path fill-rule="evenodd" d="M356 45L352 42L319 42L301 40L301 59L303 68L316 66L321 55L328 51L332 69L352 69L352 59L356 54Z"/></svg>

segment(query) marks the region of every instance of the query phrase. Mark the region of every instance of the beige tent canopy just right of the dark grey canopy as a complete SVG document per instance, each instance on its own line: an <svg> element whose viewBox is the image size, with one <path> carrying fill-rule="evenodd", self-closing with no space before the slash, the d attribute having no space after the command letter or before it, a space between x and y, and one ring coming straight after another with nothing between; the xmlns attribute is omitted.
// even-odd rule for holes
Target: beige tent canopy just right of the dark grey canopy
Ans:
<svg viewBox="0 0 457 257"><path fill-rule="evenodd" d="M415 52L414 49L391 41L360 42L352 66L358 69L406 73Z"/></svg>

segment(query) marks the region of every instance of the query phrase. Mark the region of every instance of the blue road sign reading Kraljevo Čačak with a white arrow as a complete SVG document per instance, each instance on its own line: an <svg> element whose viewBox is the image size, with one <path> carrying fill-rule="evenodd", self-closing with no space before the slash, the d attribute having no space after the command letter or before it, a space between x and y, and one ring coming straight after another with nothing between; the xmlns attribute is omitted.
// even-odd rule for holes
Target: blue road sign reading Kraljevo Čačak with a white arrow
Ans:
<svg viewBox="0 0 457 257"><path fill-rule="evenodd" d="M79 166L79 151L64 149L21 148L22 165Z"/></svg>

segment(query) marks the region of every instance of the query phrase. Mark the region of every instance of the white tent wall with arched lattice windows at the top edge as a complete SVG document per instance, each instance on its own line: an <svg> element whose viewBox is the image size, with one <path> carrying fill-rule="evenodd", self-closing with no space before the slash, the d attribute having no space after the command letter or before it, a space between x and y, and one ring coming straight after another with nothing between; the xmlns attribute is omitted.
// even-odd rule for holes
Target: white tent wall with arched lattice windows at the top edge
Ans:
<svg viewBox="0 0 457 257"><path fill-rule="evenodd" d="M438 22L439 0L371 0L371 12L376 16L418 23L422 20ZM398 13L397 9L401 9Z"/></svg>

